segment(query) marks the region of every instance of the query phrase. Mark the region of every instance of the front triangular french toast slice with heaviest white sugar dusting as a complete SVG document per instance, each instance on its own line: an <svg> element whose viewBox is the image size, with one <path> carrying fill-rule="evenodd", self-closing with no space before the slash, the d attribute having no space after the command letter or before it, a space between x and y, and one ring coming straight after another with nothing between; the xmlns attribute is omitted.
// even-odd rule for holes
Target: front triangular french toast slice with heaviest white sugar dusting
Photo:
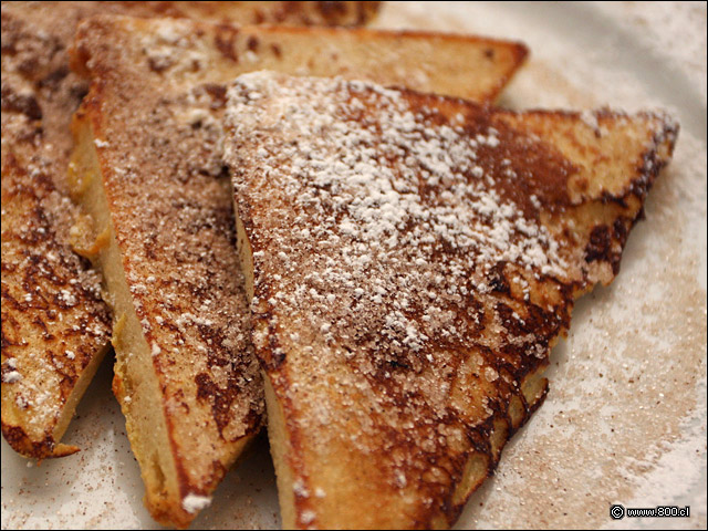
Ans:
<svg viewBox="0 0 708 531"><path fill-rule="evenodd" d="M450 525L677 126L263 72L226 123L283 527Z"/></svg>

